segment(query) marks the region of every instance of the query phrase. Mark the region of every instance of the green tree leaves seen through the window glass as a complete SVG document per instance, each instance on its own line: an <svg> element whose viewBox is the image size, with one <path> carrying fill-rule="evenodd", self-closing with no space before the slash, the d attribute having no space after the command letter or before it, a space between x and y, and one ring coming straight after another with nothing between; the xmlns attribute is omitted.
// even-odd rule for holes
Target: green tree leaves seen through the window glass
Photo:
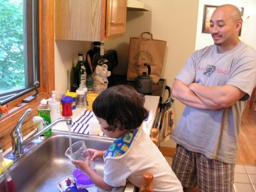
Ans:
<svg viewBox="0 0 256 192"><path fill-rule="evenodd" d="M22 0L0 0L0 93L25 86Z"/></svg>

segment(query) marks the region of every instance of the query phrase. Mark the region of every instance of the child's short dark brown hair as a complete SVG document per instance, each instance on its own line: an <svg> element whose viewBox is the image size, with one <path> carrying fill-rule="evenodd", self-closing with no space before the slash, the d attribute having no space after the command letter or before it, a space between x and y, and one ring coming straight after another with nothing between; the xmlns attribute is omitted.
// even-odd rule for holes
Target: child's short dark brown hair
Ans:
<svg viewBox="0 0 256 192"><path fill-rule="evenodd" d="M127 85L112 86L100 93L92 109L97 117L109 124L108 131L136 129L148 116L140 93Z"/></svg>

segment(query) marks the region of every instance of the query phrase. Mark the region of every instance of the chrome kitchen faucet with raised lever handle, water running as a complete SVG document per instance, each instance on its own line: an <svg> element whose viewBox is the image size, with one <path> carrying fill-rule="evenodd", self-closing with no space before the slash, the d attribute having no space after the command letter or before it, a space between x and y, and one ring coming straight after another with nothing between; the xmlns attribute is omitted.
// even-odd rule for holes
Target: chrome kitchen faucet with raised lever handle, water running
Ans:
<svg viewBox="0 0 256 192"><path fill-rule="evenodd" d="M31 136L29 136L25 141L23 141L23 134L20 130L20 127L22 123L24 122L24 119L30 113L32 109L28 109L24 115L20 118L19 122L17 123L15 129L13 130L11 136L12 136L12 153L15 156L20 156L24 154L24 146L30 143L32 140L37 138L38 136L44 134L45 131L48 131L51 129L54 125L58 124L58 122L66 122L67 125L72 124L72 118L58 118L54 120L51 124L45 126L40 131L35 132Z"/></svg>

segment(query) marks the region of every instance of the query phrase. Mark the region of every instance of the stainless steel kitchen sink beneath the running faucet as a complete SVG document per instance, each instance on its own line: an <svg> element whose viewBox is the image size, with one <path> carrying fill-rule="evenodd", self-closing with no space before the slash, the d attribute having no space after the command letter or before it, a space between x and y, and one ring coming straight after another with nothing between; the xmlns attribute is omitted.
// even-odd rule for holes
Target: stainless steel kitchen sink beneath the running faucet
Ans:
<svg viewBox="0 0 256 192"><path fill-rule="evenodd" d="M81 140L87 148L98 150L106 150L113 143L111 138L72 133L72 143ZM58 180L72 175L76 169L70 159L65 156L65 150L69 147L68 132L52 130L49 138L45 140L38 138L26 147L27 152L18 159L13 156L12 152L4 156L8 159L15 159L10 173L17 190L20 192L60 191L57 186ZM103 175L104 161L96 159L95 164L97 173ZM3 184L3 175L0 176L0 186L1 183Z"/></svg>

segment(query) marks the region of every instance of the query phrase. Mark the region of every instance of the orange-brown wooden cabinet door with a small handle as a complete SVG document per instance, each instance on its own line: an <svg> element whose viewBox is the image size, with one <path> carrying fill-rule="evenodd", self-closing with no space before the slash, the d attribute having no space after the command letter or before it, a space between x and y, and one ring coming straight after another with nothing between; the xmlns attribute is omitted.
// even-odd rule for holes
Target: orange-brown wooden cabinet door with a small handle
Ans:
<svg viewBox="0 0 256 192"><path fill-rule="evenodd" d="M107 0L106 37L125 33L127 0Z"/></svg>

